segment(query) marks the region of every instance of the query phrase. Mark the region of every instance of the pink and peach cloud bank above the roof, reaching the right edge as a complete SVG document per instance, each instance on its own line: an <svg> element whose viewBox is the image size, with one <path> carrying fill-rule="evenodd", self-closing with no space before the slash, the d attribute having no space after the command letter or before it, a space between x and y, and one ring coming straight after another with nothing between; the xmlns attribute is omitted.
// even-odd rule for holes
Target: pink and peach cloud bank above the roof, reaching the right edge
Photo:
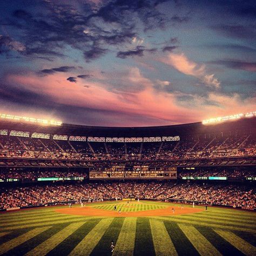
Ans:
<svg viewBox="0 0 256 256"><path fill-rule="evenodd" d="M71 74L70 74L71 75ZM109 90L106 82L92 82L92 80L78 79L77 83L66 80L67 74L56 73L50 76L38 77L29 75L9 75L7 81L17 84L25 90L48 96L52 101L60 104L88 107L100 111L113 112L107 116L102 125L112 124L120 126L167 125L198 122L213 116L253 111L256 100L242 101L239 95L225 96L209 93L208 99L217 105L205 105L205 99L193 96L191 104L177 103L177 92L156 92L150 79L145 78L139 69L130 68L129 72L120 72L112 80L128 81L132 86L143 85L143 90L134 92ZM99 80L100 81L100 80ZM104 80L105 81L105 80ZM166 82L166 81L162 81ZM167 85L167 83L164 83ZM90 87L84 87L90 86ZM119 119L114 118L118 111ZM24 114L23 114L24 115ZM28 114L26 114L28 116ZM46 115L46 113L45 113ZM137 116L136 120L131 116ZM45 116L44 116L45 117ZM141 119L139 117L142 117ZM66 122L69 122L66 120ZM100 124L98 124L100 125Z"/></svg>

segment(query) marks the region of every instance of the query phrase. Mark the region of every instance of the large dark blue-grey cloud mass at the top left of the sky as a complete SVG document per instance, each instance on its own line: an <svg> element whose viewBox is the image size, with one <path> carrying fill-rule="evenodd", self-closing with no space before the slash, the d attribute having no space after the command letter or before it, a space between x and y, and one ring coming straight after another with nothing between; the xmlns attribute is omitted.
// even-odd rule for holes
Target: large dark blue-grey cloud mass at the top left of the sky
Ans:
<svg viewBox="0 0 256 256"><path fill-rule="evenodd" d="M116 0L103 2L98 9L83 3L78 9L72 3L42 1L37 12L17 9L1 24L17 29L27 56L52 60L62 57L65 45L70 45L90 62L105 55L110 45L131 43L138 33L138 18L144 30L164 28L169 19L156 8L164 2L168 1Z"/></svg>

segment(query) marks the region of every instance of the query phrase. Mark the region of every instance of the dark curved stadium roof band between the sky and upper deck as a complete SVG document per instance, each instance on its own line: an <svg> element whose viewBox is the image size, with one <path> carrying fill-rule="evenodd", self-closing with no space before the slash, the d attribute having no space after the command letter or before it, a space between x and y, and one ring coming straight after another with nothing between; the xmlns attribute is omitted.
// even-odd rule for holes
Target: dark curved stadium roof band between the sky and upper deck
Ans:
<svg viewBox="0 0 256 256"><path fill-rule="evenodd" d="M198 122L191 124L149 127L105 127L73 124L62 124L62 126L43 126L22 122L1 121L0 129L87 137L163 137L184 136L186 134L208 134L233 130L255 131L256 117L214 125L203 125L201 122Z"/></svg>

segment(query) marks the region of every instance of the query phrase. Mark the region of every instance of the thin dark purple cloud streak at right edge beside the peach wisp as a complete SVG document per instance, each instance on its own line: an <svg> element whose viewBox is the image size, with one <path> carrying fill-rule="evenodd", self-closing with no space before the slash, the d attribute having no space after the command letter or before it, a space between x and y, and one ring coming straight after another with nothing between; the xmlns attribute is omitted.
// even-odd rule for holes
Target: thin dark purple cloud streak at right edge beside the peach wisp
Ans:
<svg viewBox="0 0 256 256"><path fill-rule="evenodd" d="M216 60L209 63L224 65L230 69L240 69L240 70L256 72L256 62L243 62L241 60Z"/></svg>

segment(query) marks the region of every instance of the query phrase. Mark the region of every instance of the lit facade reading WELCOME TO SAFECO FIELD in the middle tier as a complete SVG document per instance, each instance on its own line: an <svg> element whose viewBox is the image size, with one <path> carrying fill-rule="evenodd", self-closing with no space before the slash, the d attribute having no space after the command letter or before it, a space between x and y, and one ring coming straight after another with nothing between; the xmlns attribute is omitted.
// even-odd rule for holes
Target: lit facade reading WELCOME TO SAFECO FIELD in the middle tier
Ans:
<svg viewBox="0 0 256 256"><path fill-rule="evenodd" d="M90 179L177 179L177 167L112 166L92 170Z"/></svg>

